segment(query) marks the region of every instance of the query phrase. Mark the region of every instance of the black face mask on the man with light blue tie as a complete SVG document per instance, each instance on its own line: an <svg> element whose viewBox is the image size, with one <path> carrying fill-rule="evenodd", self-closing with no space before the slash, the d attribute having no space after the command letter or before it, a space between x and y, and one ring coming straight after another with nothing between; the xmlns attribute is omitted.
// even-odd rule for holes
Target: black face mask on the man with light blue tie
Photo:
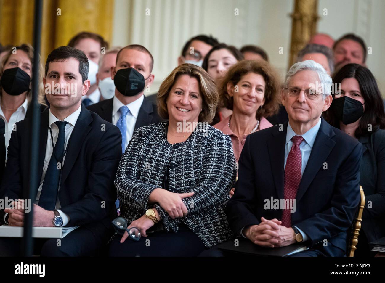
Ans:
<svg viewBox="0 0 385 283"><path fill-rule="evenodd" d="M144 89L146 82L141 73L134 68L128 68L116 72L114 84L121 94L134 96Z"/></svg>

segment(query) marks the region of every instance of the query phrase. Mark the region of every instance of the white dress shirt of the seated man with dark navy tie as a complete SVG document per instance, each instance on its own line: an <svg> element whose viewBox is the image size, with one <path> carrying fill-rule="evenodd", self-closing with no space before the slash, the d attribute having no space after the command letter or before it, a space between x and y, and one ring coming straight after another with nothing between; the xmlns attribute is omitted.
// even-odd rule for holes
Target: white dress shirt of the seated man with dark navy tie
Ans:
<svg viewBox="0 0 385 283"><path fill-rule="evenodd" d="M76 124L76 121L80 115L80 111L82 110L82 106L80 105L80 107L74 112L72 113L70 116L68 116L67 118L65 118L63 121L65 122L68 122L66 125L65 125L65 141L64 141L64 149L67 148L68 146L68 141L70 139L70 136L72 134L72 131L74 130L74 127L75 127L75 124ZM60 121L59 119L57 119L54 114L52 114L51 112L51 109L49 110L49 127L52 131L52 137L54 138L54 145L56 144L56 141L57 141L57 136L59 135L59 128L57 127L57 125L55 124L56 121ZM52 139L51 139L51 133L50 131L48 130L48 134L47 134L47 146L45 148L45 156L44 156L44 166L43 166L43 172L42 172L42 178L40 180L40 186L39 186L39 189L37 191L37 195L36 195L36 199L33 203L35 204L39 204L39 199L40 199L40 194L42 193L42 188L43 188L43 183L44 183L44 177L45 177L45 173L47 172L47 169L48 169L48 165L49 165L49 161L51 159L51 156L52 156L52 153L54 152L54 148L52 147ZM65 161L65 155L63 157L63 162L62 162L62 166L64 166L64 161ZM61 175L60 175L60 178L61 178ZM58 192L60 190L60 180L59 180L59 188L58 188ZM57 210L60 214L60 216L62 217L63 219L63 225L62 226L65 226L67 225L67 223L69 222L69 216L67 214L65 214L64 212L62 212L59 208L61 208L61 205L60 205L60 201L59 201L59 193L57 195L57 201L56 201L56 206L55 206L55 210ZM7 213L8 214L8 213ZM5 220L5 217L7 216L7 214L5 214L4 216L4 220ZM8 224L8 223L7 223ZM74 227L62 227L62 237L66 236L68 233L70 233L70 231L78 228L79 226L74 226Z"/></svg>

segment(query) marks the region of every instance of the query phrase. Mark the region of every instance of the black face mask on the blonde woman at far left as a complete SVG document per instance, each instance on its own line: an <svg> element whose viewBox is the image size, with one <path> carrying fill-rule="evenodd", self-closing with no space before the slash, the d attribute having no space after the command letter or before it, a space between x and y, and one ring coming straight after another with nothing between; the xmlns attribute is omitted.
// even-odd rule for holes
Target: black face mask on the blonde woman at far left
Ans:
<svg viewBox="0 0 385 283"><path fill-rule="evenodd" d="M20 95L29 90L31 77L22 69L16 67L4 70L0 85L10 95Z"/></svg>

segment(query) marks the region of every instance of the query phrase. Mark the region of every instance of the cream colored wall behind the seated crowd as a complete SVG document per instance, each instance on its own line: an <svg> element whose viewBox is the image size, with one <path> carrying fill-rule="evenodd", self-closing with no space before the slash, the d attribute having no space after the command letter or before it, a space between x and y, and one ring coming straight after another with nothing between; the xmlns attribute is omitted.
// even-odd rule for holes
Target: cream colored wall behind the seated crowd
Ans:
<svg viewBox="0 0 385 283"><path fill-rule="evenodd" d="M142 44L150 50L155 74L150 94L176 67L184 43L199 33L212 34L236 47L261 46L283 79L288 69L293 5L294 0L115 0L112 44ZM328 9L327 16L323 15L324 8ZM367 65L383 92L384 10L382 0L318 1L318 31L335 39L348 32L363 37L373 52L368 54Z"/></svg>

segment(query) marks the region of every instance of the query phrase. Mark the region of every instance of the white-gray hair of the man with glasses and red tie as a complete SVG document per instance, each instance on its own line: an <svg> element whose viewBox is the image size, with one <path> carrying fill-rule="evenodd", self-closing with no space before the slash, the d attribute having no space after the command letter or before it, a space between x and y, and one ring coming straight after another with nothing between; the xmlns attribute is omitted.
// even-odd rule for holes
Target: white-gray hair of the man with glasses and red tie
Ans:
<svg viewBox="0 0 385 283"><path fill-rule="evenodd" d="M329 94L331 94L331 85L333 83L333 80L331 79L330 75L328 75L326 70L322 67L322 65L316 63L313 60L297 62L293 66L291 66L290 70L286 74L285 87L288 87L289 80L291 79L291 77L293 77L293 75L305 70L315 71L318 74L321 87L323 88L322 99L325 99Z"/></svg>

